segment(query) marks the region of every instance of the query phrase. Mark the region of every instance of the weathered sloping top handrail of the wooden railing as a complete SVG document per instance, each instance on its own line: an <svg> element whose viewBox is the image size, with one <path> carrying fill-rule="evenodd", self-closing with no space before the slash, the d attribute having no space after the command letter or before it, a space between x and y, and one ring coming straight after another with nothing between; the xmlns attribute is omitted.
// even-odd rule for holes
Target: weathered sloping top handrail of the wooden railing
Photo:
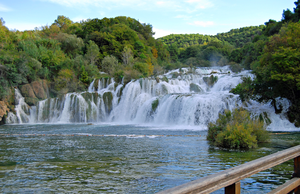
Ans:
<svg viewBox="0 0 300 194"><path fill-rule="evenodd" d="M208 194L300 155L300 145L170 188L158 194Z"/></svg>

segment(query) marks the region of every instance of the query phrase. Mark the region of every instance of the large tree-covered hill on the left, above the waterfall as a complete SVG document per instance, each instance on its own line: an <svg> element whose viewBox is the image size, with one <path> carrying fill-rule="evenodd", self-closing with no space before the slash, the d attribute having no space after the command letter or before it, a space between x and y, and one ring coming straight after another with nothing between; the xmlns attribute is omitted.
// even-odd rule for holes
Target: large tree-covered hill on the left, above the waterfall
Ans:
<svg viewBox="0 0 300 194"><path fill-rule="evenodd" d="M41 79L58 96L86 90L93 78L126 83L157 74L169 52L153 34L152 25L125 16L75 23L58 16L30 31L10 31L1 18L0 100L7 101L10 87Z"/></svg>

